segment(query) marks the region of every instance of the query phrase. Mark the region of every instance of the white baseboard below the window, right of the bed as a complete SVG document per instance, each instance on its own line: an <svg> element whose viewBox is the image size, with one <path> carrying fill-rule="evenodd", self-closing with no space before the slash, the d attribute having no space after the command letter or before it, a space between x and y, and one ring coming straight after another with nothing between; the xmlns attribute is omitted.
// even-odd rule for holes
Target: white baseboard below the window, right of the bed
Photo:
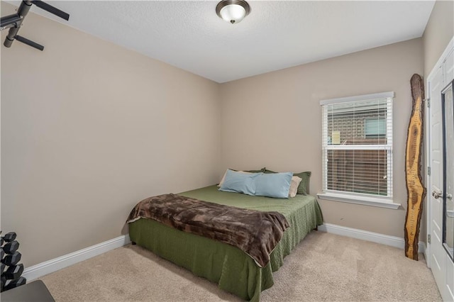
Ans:
<svg viewBox="0 0 454 302"><path fill-rule="evenodd" d="M398 247L399 249L405 248L405 240L401 237L373 233L367 230L359 230L357 228L347 228L341 225L333 225L331 223L324 223L323 225L319 225L319 230L322 232L333 233L345 237L352 237L360 240L381 243L382 245L390 245L392 247ZM425 254L426 244L422 241L418 242L418 249L419 252Z"/></svg>

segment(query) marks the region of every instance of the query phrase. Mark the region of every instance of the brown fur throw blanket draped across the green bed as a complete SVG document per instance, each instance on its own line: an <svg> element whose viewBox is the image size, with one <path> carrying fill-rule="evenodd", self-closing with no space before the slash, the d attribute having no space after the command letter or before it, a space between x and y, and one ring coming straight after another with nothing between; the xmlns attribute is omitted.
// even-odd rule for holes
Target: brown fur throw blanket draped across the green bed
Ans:
<svg viewBox="0 0 454 302"><path fill-rule="evenodd" d="M172 228L238 247L260 267L270 262L270 253L289 228L278 212L262 212L199 201L176 194L153 196L140 201L128 223L150 218Z"/></svg>

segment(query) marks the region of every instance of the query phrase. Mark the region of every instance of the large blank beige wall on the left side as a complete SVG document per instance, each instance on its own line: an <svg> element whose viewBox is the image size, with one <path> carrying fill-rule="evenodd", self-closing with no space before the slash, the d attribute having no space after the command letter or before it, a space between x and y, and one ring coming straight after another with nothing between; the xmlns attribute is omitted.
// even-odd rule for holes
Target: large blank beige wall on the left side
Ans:
<svg viewBox="0 0 454 302"><path fill-rule="evenodd" d="M121 235L142 198L216 182L218 84L33 13L21 35L45 50L1 46L1 230L26 267Z"/></svg>

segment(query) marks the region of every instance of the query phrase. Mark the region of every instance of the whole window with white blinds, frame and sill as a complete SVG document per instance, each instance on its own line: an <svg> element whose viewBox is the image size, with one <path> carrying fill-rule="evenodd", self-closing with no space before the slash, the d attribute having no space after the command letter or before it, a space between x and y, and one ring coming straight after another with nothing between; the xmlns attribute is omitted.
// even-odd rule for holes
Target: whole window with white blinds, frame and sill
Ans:
<svg viewBox="0 0 454 302"><path fill-rule="evenodd" d="M320 198L389 208L392 203L394 92L321 101L323 194Z"/></svg>

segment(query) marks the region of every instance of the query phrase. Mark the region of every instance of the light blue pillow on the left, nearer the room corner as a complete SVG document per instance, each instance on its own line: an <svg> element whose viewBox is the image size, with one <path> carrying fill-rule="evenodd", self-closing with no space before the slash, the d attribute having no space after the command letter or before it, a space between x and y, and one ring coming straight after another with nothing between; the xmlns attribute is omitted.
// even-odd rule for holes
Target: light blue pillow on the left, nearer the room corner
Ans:
<svg viewBox="0 0 454 302"><path fill-rule="evenodd" d="M263 173L245 174L227 170L226 178L219 188L219 191L237 192L248 195L255 195L255 179Z"/></svg>

